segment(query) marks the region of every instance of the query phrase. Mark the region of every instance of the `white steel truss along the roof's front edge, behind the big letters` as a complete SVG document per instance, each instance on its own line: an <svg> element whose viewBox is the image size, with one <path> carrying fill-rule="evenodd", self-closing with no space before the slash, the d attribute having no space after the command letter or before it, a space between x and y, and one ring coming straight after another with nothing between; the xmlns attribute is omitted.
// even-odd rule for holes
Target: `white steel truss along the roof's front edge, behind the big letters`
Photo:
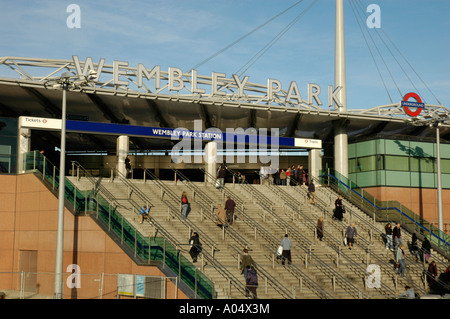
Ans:
<svg viewBox="0 0 450 319"><path fill-rule="evenodd" d="M117 61L115 61L116 63ZM73 77L80 77L80 69L84 73L88 69L100 70L101 76L94 83L79 82L79 85L72 88L72 91L83 93L96 93L105 95L129 96L136 98L146 98L154 100L171 100L179 102L197 102L202 104L214 104L229 107L256 108L265 110L278 110L282 112L309 113L318 115L336 116L341 118L372 118L374 120L383 121L408 121L409 116L405 114L401 102L383 106L376 106L370 109L350 109L340 111L337 109L321 108L314 105L312 101L302 99L300 103L294 103L288 99L288 91L281 89L272 94L272 99L268 98L267 84L258 84L245 82L240 88L236 79L221 78L220 83L213 76L197 75L196 73L179 74L180 82L183 82L181 90L170 89L169 71L159 71L159 81L161 85L158 87L150 87L150 80L145 78L147 83L142 83L139 79L139 72L142 71L142 65L137 67L128 66L127 62L120 64L120 77L117 75L118 66L113 64L105 64L104 59L100 59L99 63L94 63L92 59L87 58L85 61L79 61L76 65L74 59L40 59L40 58L23 58L23 57L1 57L0 73L2 69L12 70L14 77L1 77L0 84L21 85L24 87L42 87L48 88L47 83L59 78L62 73L69 72ZM77 69L78 68L78 69ZM151 70L146 70L147 74ZM3 72L4 73L4 72ZM37 75L35 75L37 73ZM86 74L84 74L86 75ZM142 77L142 75L141 75ZM138 83L140 80L141 83ZM192 84L196 82L195 87ZM216 81L216 82L215 82ZM244 81L240 79L243 83ZM125 84L126 82L126 84ZM216 91L212 92L211 88L214 84L219 84ZM197 87L198 85L198 87ZM202 87L202 93L198 90ZM207 90L207 88L210 90ZM220 91L220 92L219 92ZM217 94L217 93L220 93ZM311 98L311 100L313 100ZM317 102L317 101L316 101ZM443 105L426 104L421 112L421 116L439 115L441 118L450 114L449 109Z"/></svg>

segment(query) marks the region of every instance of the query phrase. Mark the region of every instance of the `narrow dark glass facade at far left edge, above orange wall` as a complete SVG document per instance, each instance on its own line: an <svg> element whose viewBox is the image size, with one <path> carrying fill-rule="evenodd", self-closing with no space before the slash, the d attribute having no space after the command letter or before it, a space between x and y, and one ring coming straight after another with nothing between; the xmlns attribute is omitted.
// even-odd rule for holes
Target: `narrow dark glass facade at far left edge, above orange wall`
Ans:
<svg viewBox="0 0 450 319"><path fill-rule="evenodd" d="M17 172L17 118L0 118L0 173Z"/></svg>

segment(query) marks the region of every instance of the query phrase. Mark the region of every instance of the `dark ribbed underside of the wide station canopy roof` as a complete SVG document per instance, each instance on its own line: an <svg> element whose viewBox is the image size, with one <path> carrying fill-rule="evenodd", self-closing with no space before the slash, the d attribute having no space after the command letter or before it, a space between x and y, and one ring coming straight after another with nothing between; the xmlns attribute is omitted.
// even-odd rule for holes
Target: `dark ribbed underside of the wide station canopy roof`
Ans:
<svg viewBox="0 0 450 319"><path fill-rule="evenodd" d="M441 108L442 106L433 106ZM425 107L427 108L427 107ZM61 118L62 91L42 82L0 77L0 116ZM444 108L445 109L445 108ZM402 114L402 115L398 115ZM177 94L129 94L92 89L67 92L67 118L71 120L121 123L137 126L194 129L194 120L202 120L202 129L278 128L280 136L321 139L324 147L334 143L334 126L346 127L349 143L375 136L435 138L428 126L407 123L397 105L377 109L337 112L325 108L273 106L202 99ZM450 127L440 130L442 142L450 140ZM46 143L59 146L59 132L33 131ZM67 134L67 151L103 151L115 153L116 136ZM132 137L130 150L170 149L177 141Z"/></svg>

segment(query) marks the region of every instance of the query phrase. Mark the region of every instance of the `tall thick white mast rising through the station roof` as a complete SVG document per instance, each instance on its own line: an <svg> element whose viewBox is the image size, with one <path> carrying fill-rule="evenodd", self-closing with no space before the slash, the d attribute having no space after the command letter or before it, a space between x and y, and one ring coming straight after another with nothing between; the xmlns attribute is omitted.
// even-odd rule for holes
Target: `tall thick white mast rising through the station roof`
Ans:
<svg viewBox="0 0 450 319"><path fill-rule="evenodd" d="M344 41L344 1L336 0L335 66L334 86L340 87L337 93L341 105L339 112L347 111L347 88L345 79L345 41ZM334 126L334 167L348 177L348 135L344 121L336 121Z"/></svg>

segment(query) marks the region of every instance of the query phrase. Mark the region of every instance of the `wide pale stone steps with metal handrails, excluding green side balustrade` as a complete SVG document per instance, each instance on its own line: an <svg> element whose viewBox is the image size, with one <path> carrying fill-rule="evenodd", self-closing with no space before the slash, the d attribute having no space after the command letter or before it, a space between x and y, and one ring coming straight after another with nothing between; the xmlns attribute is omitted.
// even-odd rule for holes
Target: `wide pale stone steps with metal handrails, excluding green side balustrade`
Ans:
<svg viewBox="0 0 450 319"><path fill-rule="evenodd" d="M186 259L190 259L189 238L197 232L203 252L194 267L213 282L216 298L245 296L239 270L244 248L257 264L259 298L395 298L406 285L419 295L428 293L427 265L408 255L406 277L396 273L394 255L385 249L384 222L375 222L350 202L346 202L343 222L331 218L338 195L330 187L318 185L316 204L311 205L305 186L228 183L216 189L212 184L190 182L179 171L174 173L173 181L161 181L150 171L143 180L128 180L114 172L114 178L102 181L80 177L84 174L71 181L85 190L101 184L140 233L149 237L170 234ZM192 208L186 220L181 218L183 191ZM237 204L236 219L228 228L219 228L214 213L218 204L224 206L227 196ZM151 207L152 223L139 223L137 212L143 205ZM322 241L316 236L319 217L325 220ZM351 222L357 226L358 239L349 250L343 244L343 233ZM291 265L282 265L276 253L285 234L293 242ZM404 232L404 243L408 240L410 235ZM437 252L432 254L440 263L448 263Z"/></svg>

